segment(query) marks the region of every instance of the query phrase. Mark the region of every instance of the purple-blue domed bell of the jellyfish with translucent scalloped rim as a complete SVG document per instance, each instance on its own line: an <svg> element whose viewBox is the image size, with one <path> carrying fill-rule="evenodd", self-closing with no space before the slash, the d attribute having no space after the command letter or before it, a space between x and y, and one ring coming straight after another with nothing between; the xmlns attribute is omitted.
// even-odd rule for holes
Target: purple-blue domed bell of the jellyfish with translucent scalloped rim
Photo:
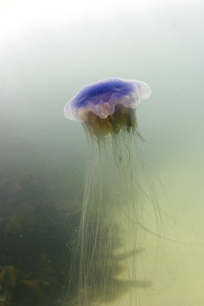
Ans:
<svg viewBox="0 0 204 306"><path fill-rule="evenodd" d="M84 122L89 119L89 111L100 118L113 115L115 105L136 108L140 99L151 95L149 86L137 80L111 78L83 87L64 107L68 119Z"/></svg>

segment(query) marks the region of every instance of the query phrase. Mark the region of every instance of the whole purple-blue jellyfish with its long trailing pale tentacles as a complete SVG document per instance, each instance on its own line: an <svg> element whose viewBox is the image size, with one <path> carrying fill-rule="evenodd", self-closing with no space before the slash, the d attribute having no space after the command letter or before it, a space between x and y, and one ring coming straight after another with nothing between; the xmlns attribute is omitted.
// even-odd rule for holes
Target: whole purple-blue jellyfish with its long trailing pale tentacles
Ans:
<svg viewBox="0 0 204 306"><path fill-rule="evenodd" d="M139 258L145 253L142 220L145 204L153 201L158 229L159 207L154 186L148 183L144 190L140 181L144 171L138 159L145 141L136 116L140 100L150 95L142 81L110 78L83 87L64 107L66 118L82 124L87 142L81 218L72 238L65 305L135 305L138 289L151 286L140 273Z"/></svg>

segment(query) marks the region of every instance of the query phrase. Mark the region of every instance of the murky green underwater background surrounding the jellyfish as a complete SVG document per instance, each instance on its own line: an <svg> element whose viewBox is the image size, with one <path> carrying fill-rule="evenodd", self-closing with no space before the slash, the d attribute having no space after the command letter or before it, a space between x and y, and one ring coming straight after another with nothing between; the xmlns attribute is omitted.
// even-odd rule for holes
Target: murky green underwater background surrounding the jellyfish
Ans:
<svg viewBox="0 0 204 306"><path fill-rule="evenodd" d="M0 305L60 298L87 154L81 124L63 109L80 88L110 77L152 90L137 120L164 185L169 241L145 267L155 280L140 305L203 305L203 2L0 7ZM157 237L145 239L151 263Z"/></svg>

